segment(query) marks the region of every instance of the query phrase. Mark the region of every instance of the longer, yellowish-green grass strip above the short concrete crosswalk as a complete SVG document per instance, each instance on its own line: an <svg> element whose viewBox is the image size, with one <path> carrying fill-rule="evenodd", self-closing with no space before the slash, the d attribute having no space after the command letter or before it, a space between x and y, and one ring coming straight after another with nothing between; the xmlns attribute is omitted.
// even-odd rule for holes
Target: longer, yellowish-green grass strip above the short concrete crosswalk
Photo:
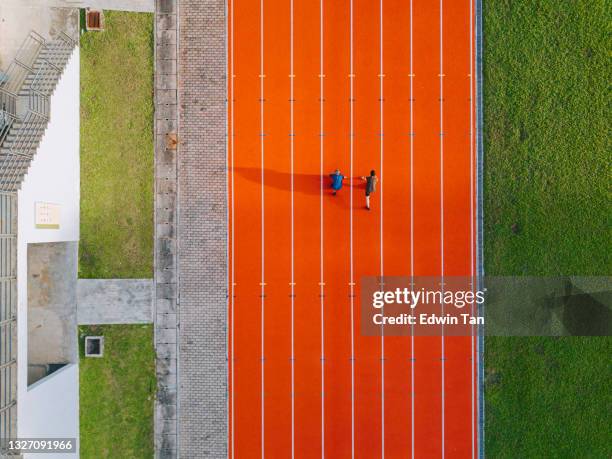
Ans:
<svg viewBox="0 0 612 459"><path fill-rule="evenodd" d="M153 276L153 15L81 36L79 277Z"/></svg>

